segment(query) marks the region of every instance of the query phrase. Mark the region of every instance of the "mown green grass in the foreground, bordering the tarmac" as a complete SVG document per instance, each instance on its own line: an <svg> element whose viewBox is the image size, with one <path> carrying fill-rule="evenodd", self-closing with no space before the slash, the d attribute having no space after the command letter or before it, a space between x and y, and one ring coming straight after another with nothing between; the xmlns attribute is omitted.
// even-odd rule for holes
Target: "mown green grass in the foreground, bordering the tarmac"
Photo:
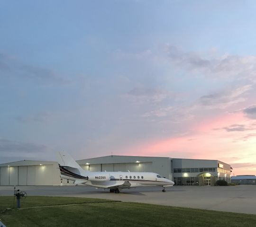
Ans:
<svg viewBox="0 0 256 227"><path fill-rule="evenodd" d="M31 196L32 197L32 196ZM2 203L0 197L0 204ZM28 199L29 197L27 197ZM253 227L256 215L178 208L134 202L106 202L107 200L71 197L34 197L34 204L53 198L56 204L70 201L85 203L68 206L11 210L0 214L7 227ZM41 201L42 200L42 201ZM90 203L91 201L91 203ZM25 206L25 201L22 201ZM31 206L32 202L28 202ZM53 205L53 200L51 205ZM43 204L46 205L46 204ZM2 204L1 204L2 207Z"/></svg>

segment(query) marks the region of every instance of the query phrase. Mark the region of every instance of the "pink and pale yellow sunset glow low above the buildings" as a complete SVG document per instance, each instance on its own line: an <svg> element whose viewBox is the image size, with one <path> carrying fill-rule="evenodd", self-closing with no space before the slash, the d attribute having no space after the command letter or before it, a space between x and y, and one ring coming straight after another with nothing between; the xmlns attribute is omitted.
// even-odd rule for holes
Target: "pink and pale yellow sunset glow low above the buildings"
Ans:
<svg viewBox="0 0 256 227"><path fill-rule="evenodd" d="M122 153L134 156L218 159L228 164L234 164L233 157L237 157L236 163L256 163L256 137L247 141L234 142L234 138L241 137L247 132L213 130L242 123L248 123L242 113L203 119L200 124L194 125L191 136L150 140L123 150ZM253 166L240 166L234 168L236 175L256 173L256 168Z"/></svg>

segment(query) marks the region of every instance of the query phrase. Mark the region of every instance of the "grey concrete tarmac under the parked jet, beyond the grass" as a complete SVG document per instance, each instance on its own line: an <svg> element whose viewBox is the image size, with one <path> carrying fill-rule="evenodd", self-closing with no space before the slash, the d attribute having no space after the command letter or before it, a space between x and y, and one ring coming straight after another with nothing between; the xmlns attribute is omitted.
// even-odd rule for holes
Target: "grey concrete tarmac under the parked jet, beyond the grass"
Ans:
<svg viewBox="0 0 256 227"><path fill-rule="evenodd" d="M161 187L124 189L121 193L90 186L17 186L27 195L71 196L142 202L166 206L188 207L256 214L256 185L174 186L162 192ZM0 186L0 195L13 195L13 186Z"/></svg>

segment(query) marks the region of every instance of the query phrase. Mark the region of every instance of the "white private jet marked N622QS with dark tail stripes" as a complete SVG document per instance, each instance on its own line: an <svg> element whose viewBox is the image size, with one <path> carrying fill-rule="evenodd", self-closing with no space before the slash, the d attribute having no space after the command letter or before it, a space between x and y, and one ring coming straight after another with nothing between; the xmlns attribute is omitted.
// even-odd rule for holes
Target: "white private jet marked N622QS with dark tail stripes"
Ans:
<svg viewBox="0 0 256 227"><path fill-rule="evenodd" d="M90 172L81 166L66 152L57 152L61 178L71 180L75 184L82 183L96 188L110 189L119 193L123 188L141 186L173 186L174 182L159 174L147 172Z"/></svg>

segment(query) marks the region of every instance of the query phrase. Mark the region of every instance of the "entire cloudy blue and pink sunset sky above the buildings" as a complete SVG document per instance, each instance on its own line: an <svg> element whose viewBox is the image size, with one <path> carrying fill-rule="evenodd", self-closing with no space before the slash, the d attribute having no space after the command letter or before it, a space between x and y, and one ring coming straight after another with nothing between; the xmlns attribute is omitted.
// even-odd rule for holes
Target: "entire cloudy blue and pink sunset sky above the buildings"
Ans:
<svg viewBox="0 0 256 227"><path fill-rule="evenodd" d="M0 163L217 159L256 175L256 1L2 0Z"/></svg>

